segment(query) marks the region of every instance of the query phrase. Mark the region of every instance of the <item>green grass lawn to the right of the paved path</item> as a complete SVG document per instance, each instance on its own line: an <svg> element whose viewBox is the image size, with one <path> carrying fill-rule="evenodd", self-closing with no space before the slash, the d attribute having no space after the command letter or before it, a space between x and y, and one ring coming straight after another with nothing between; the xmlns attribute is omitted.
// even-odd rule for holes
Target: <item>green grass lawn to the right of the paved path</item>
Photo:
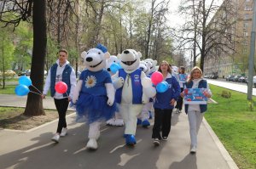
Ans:
<svg viewBox="0 0 256 169"><path fill-rule="evenodd" d="M210 85L212 99L205 118L240 169L256 168L256 103L249 111L247 94ZM231 93L230 99L221 96ZM253 97L256 100L256 97Z"/></svg>

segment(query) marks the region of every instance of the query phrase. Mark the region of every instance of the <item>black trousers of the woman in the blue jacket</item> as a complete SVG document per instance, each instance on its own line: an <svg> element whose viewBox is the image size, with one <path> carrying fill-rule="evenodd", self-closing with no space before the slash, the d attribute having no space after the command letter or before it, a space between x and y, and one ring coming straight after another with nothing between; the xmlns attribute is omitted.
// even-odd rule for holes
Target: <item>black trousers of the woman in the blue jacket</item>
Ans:
<svg viewBox="0 0 256 169"><path fill-rule="evenodd" d="M171 131L171 120L172 120L172 109L171 110L160 110L154 109L154 127L152 138L161 139L162 137L168 137Z"/></svg>

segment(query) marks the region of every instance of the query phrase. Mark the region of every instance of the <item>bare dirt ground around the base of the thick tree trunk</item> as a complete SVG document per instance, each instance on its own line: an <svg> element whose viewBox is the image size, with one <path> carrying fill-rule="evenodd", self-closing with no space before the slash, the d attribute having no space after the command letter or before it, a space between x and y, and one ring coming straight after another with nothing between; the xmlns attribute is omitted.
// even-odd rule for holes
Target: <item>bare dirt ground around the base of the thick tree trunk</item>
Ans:
<svg viewBox="0 0 256 169"><path fill-rule="evenodd" d="M46 122L58 118L58 112L55 110L44 110L46 115L26 116L23 115L22 108L1 108L0 109L0 128L13 130L29 130L38 127ZM67 115L73 113L67 111Z"/></svg>

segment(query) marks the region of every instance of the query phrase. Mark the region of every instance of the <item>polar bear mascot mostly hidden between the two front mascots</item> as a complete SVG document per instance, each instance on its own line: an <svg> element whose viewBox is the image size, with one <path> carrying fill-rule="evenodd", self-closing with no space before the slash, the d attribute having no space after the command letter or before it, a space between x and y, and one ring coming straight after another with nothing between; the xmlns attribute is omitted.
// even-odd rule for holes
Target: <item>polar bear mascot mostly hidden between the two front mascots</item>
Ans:
<svg viewBox="0 0 256 169"><path fill-rule="evenodd" d="M112 64L119 64L119 59L114 55L111 55L110 58L107 59L106 69L108 70L108 73L110 74L110 76L114 75L114 73L110 69L110 66ZM113 115L113 118L106 121L106 123L107 125L114 126L114 127L124 126L124 120L122 119L122 116L120 115L119 112L115 112L115 115Z"/></svg>

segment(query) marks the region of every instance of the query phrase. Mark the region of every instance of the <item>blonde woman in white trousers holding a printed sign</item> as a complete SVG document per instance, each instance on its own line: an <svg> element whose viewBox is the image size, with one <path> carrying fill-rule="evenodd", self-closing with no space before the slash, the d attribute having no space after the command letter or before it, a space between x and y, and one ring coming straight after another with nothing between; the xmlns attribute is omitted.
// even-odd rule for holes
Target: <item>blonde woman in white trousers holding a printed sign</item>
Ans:
<svg viewBox="0 0 256 169"><path fill-rule="evenodd" d="M207 92L205 92L204 95L207 98L212 97L209 85L206 80L202 79L202 71L197 66L191 70L188 81L184 83L184 89L186 88L207 88ZM184 92L181 93L181 97L184 97ZM185 112L189 117L189 133L191 139L190 153L196 152L197 134L206 111L207 104L185 104Z"/></svg>

